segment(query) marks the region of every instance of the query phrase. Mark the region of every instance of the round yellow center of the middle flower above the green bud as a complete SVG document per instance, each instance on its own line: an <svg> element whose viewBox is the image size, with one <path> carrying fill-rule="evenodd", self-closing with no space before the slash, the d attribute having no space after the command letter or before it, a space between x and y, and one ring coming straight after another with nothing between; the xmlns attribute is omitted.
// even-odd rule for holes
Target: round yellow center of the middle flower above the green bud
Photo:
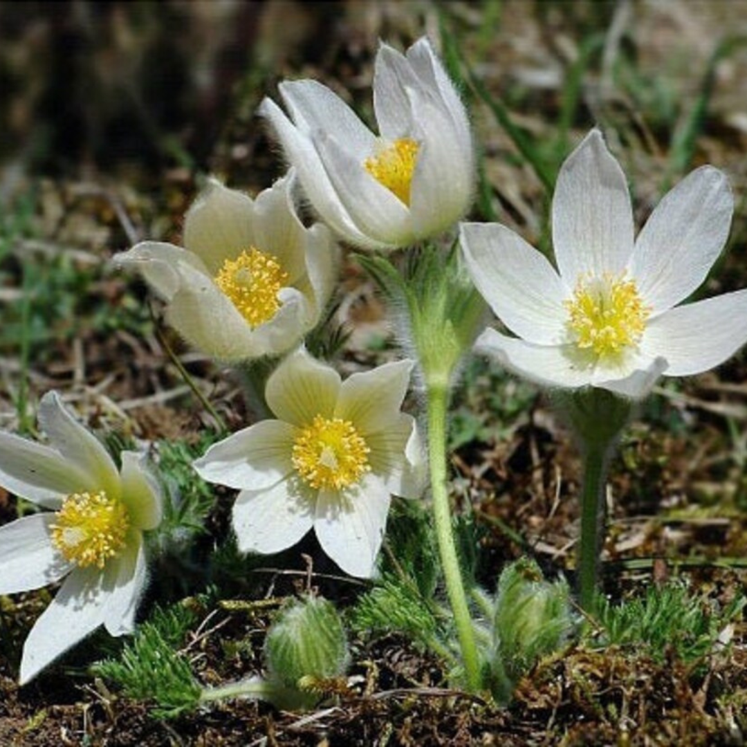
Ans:
<svg viewBox="0 0 747 747"><path fill-rule="evenodd" d="M350 421L317 415L311 425L300 429L291 458L312 488L340 490L357 483L371 469L370 451Z"/></svg>

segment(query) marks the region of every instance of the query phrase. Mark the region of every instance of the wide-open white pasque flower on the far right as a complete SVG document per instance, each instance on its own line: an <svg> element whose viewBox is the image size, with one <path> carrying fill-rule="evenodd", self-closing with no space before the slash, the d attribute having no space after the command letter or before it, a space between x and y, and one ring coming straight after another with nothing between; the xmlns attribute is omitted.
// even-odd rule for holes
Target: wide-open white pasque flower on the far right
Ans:
<svg viewBox="0 0 747 747"><path fill-rule="evenodd" d="M747 341L747 290L678 304L719 256L732 210L726 177L704 166L663 197L634 241L624 174L592 130L555 187L557 271L506 226L462 224L472 280L517 335L486 329L477 350L540 385L633 399L662 373L719 365Z"/></svg>

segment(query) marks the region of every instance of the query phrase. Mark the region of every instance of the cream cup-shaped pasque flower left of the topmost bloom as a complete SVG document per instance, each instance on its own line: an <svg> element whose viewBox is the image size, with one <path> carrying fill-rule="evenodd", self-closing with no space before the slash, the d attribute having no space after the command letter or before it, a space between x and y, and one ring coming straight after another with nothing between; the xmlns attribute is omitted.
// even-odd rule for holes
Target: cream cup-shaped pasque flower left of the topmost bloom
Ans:
<svg viewBox="0 0 747 747"><path fill-rule="evenodd" d="M167 302L168 323L224 362L276 356L320 319L337 247L326 226L307 229L291 171L256 199L214 179L187 211L185 249L143 241L115 258Z"/></svg>

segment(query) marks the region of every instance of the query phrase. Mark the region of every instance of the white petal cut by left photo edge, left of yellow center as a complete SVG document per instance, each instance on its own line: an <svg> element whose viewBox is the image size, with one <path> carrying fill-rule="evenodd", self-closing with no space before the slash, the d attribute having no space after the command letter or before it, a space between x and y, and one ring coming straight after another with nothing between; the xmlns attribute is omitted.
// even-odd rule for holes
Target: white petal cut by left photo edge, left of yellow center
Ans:
<svg viewBox="0 0 747 747"><path fill-rule="evenodd" d="M40 513L0 527L0 594L40 589L72 568L50 540L56 518L55 514Z"/></svg>

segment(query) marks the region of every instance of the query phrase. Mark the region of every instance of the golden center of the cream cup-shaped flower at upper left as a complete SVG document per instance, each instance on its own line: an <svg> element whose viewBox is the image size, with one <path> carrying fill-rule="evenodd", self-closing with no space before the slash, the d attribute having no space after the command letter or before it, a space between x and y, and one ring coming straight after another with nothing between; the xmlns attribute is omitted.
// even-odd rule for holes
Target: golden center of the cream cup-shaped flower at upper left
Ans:
<svg viewBox="0 0 747 747"><path fill-rule="evenodd" d="M272 319L280 308L278 291L288 273L270 254L250 247L236 259L226 259L215 283L252 327Z"/></svg>

